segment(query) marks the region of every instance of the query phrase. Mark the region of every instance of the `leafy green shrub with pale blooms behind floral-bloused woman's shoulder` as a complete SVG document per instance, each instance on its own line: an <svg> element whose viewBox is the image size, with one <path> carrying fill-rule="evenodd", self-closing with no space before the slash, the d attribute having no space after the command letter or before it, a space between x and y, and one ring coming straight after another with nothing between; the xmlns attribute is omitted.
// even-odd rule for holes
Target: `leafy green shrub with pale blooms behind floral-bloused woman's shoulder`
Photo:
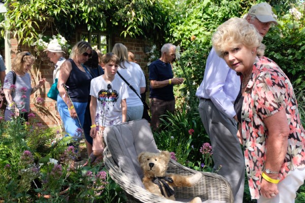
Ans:
<svg viewBox="0 0 305 203"><path fill-rule="evenodd" d="M275 8L279 25L272 27L265 36L265 55L274 60L297 83L305 77L305 27L302 3L286 2ZM293 13L291 13L293 11Z"/></svg>

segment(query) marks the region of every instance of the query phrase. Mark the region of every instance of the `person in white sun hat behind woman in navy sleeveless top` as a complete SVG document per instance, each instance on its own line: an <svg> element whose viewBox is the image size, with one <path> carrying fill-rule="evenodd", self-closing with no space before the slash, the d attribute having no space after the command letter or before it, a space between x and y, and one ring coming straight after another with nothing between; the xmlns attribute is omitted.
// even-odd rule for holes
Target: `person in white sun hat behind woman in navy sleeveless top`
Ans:
<svg viewBox="0 0 305 203"><path fill-rule="evenodd" d="M53 83L55 82L55 79L58 78L59 76L59 70L60 70L60 65L63 64L63 62L66 60L64 58L63 53L65 53L62 50L62 46L60 46L57 42L50 42L48 47L44 50L47 52L47 56L52 61L55 63L55 69L53 72Z"/></svg>

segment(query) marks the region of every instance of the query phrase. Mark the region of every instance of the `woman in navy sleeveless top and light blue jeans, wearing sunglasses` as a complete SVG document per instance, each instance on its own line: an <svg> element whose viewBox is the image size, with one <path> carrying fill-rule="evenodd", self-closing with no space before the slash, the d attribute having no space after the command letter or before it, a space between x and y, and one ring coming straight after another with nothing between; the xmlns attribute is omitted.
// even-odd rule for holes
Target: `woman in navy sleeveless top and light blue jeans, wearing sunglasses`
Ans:
<svg viewBox="0 0 305 203"><path fill-rule="evenodd" d="M81 131L78 131L78 128L81 128L84 122L92 76L86 72L82 64L91 55L90 44L80 41L72 48L70 58L60 66L57 105L65 130L72 137L79 137ZM63 84L67 87L72 103Z"/></svg>

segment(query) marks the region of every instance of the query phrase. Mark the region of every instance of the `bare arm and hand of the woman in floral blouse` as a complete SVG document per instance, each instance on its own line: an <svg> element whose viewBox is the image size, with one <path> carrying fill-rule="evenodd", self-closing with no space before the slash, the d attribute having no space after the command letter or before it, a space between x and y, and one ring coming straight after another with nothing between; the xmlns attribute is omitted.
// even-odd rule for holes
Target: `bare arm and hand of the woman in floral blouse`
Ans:
<svg viewBox="0 0 305 203"><path fill-rule="evenodd" d="M286 110L283 109L278 113L265 118L264 123L268 128L265 168L268 168L270 171L279 172L287 153L290 131ZM278 178L278 174L269 174L268 176L272 179ZM261 194L270 198L271 193L275 193L276 195L279 193L278 185L262 179Z"/></svg>

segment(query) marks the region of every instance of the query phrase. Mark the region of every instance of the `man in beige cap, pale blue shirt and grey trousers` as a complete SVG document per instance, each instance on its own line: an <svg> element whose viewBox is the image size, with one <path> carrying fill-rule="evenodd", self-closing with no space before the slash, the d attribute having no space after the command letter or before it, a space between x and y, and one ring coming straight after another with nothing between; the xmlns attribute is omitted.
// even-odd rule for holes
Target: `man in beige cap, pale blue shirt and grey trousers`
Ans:
<svg viewBox="0 0 305 203"><path fill-rule="evenodd" d="M245 18L262 37L272 23L278 24L267 3L252 6ZM229 181L235 203L242 202L245 185L245 161L237 138L237 117L233 106L239 89L239 76L212 48L196 96L200 99L201 121L211 141L214 170L219 170L218 174Z"/></svg>

